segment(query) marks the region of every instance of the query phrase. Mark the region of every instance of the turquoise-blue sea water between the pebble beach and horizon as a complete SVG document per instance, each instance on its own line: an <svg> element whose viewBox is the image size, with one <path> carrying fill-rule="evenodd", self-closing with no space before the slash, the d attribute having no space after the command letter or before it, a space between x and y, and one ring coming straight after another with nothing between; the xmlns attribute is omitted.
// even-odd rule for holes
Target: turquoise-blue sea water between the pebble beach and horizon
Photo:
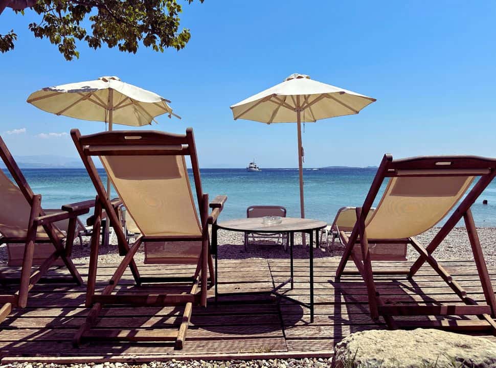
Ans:
<svg viewBox="0 0 496 368"><path fill-rule="evenodd" d="M33 191L42 195L44 208L60 208L62 204L96 195L84 169L23 169L22 172ZM104 170L99 172L105 182ZM306 217L331 222L341 207L362 205L374 174L375 169L305 169ZM210 198L217 194L228 196L221 219L245 217L246 207L253 204L283 205L288 216L300 215L297 169L262 172L202 169L201 179ZM483 199L489 204L483 205ZM496 226L496 181L472 206L472 213L478 226Z"/></svg>

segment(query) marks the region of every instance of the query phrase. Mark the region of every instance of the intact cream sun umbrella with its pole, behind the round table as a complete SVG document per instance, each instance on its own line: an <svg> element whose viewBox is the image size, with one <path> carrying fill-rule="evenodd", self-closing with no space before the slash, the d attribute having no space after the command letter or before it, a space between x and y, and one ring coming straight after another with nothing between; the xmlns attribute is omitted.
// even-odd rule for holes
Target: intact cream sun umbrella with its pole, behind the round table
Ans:
<svg viewBox="0 0 496 368"><path fill-rule="evenodd" d="M266 124L297 123L300 211L304 218L301 123L356 114L374 101L371 97L312 80L307 75L291 74L282 83L232 105L231 109L234 120Z"/></svg>

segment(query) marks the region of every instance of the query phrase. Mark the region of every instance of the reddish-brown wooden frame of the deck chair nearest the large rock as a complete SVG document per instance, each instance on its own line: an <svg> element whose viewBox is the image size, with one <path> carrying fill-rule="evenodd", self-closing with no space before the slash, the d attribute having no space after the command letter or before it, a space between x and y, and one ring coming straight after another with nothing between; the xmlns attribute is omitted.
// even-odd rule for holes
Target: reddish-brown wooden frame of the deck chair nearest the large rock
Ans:
<svg viewBox="0 0 496 368"><path fill-rule="evenodd" d="M377 193L381 187L382 182L386 178L398 178L398 177L472 177L474 180L475 176L480 176L479 180L475 183L472 189L469 190L469 185L466 185L463 193L453 204L453 208L456 203L459 203L458 208L453 212L451 216L447 219L444 225L441 227L440 231L433 238L431 243L427 247L422 247L413 237L408 237L404 239L384 239L380 238L371 239L367 235L367 215L371 209L372 203L374 202ZM360 274L362 275L368 292L368 300L370 307L371 317L376 319L379 315L384 316L388 326L390 328L399 327L393 316L421 316L421 315L431 315L431 316L457 316L457 315L477 315L480 320L468 320L464 321L463 324L457 326L458 330L474 330L477 328L490 329L492 332L496 332L496 324L494 323L491 316L496 315L496 299L494 297L494 291L492 289L490 277L487 271L487 266L484 261L479 237L477 234L477 229L474 224L474 219L470 212L470 206L479 197L482 191L489 185L492 179L496 176L496 159L476 157L476 156L425 156L425 157L413 157L393 160L393 157L386 154L380 163L377 173L372 182L371 188L364 204L361 208L356 208L356 223L353 227L351 235L347 235L341 232L341 238L345 241L346 249L341 262L336 270L336 279L339 280L343 274ZM391 180L390 179L390 180ZM465 197L462 199L463 195ZM381 201L384 200L385 195L382 197ZM453 209L452 208L452 209ZM381 211L381 202L375 210L375 214ZM446 214L440 216L436 221L439 222ZM477 266L477 271L481 281L482 289L484 291L485 301L487 305L478 305L474 299L467 295L467 292L458 284L453 277L448 273L448 271L436 261L432 256L434 250L439 246L443 239L452 231L453 227L460 221L464 219L465 226L468 233L468 238L470 240L470 245L472 252L474 254L474 260ZM434 226L435 223L432 225ZM392 271L380 270L375 274L404 274L408 278L413 278L415 273L419 268L427 262L439 276L446 282L446 284L460 297L460 300L465 303L465 305L417 305L417 304L403 304L404 301L398 301L395 303L392 298L388 298L388 303L381 298L379 290L374 284L374 271L372 269L371 257L369 252L369 244L380 242L380 243L395 243L401 240L402 242L407 242L412 245L419 253L419 258L413 263L410 268L401 270L395 269ZM353 246L355 244L360 244L362 254L364 255L363 261L357 260L353 257ZM356 265L357 271L345 270L345 266L349 258L353 260ZM391 302L392 304L390 304ZM450 326L456 321L450 321ZM483 322L481 324L481 322ZM423 322L422 322L423 323ZM481 327L482 326L482 327ZM400 327L409 327L408 324ZM419 327L419 325L415 325ZM423 327L423 326L422 326ZM426 327L441 327L443 324L439 324L437 321L431 321L427 323Z"/></svg>

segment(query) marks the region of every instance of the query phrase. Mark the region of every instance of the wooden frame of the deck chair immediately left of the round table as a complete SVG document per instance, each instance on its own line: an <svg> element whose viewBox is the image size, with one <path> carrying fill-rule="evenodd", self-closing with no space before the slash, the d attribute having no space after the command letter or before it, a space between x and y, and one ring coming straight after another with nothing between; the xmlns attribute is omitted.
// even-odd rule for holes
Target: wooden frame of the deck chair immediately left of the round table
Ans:
<svg viewBox="0 0 496 368"><path fill-rule="evenodd" d="M215 284L213 261L210 254L209 225L216 223L217 217L222 211L226 196L217 196L210 204L208 194L202 192L200 171L196 155L193 130L188 128L186 134L172 134L159 131L111 131L82 136L78 129L71 130L71 136L81 156L84 166L97 191L97 200L94 214L94 231L91 241L91 256L89 260L88 282L86 292L86 307L91 307L85 323L80 327L73 339L74 346L79 346L82 339L118 339L147 342L174 342L176 349L182 349L186 339L186 332L191 317L193 305L207 305L208 279ZM121 202L112 204L106 197L105 187L93 163L92 156L190 156L193 170L194 186L200 214L201 235L160 235L146 236L143 232L133 244L129 246L126 240L121 220L117 209ZM108 172L108 171L107 171ZM119 192L119 186L116 186ZM189 186L189 180L188 180ZM189 190L189 189L188 189ZM193 200L193 198L191 198ZM126 205L126 199L121 197L122 204ZM209 206L212 212L209 214ZM126 208L128 206L126 205ZM176 209L177 210L177 209ZM105 211L117 235L118 248L122 262L109 280L108 285L100 294L95 293L95 283L98 265L98 246L100 222L102 211ZM142 243L145 242L201 242L201 254L198 257L196 271L192 277L142 277L138 266L134 261L134 255ZM191 289L189 293L183 294L140 294L124 295L112 294L119 283L124 271L130 268L136 285L150 283L173 283L189 282ZM200 292L198 293L198 290ZM92 331L97 317L106 304L125 304L134 306L184 306L184 314L181 325L177 331L171 330L104 330Z"/></svg>

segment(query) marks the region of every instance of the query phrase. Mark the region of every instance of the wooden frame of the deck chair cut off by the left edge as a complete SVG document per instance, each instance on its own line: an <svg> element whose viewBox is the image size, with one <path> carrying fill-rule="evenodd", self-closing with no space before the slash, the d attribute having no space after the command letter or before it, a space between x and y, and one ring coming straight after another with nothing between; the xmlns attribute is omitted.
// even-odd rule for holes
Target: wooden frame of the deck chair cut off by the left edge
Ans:
<svg viewBox="0 0 496 368"><path fill-rule="evenodd" d="M88 213L91 203L81 205L75 212L59 211L47 215L41 208L41 195L34 194L31 190L26 178L17 166L14 157L10 153L7 145L0 136L0 156L9 170L12 178L22 196L26 199L29 207L31 208L29 214L29 221L26 223L26 236L2 236L0 244L15 244L24 243L24 258L21 265L20 280L10 280L2 275L0 272L0 283L8 284L11 281L18 282L19 287L13 294L0 295L0 322L3 321L11 312L13 308L25 308L28 302L28 293L33 286L40 281L43 275L50 269L50 267L58 259L62 259L65 267L69 270L72 280L78 285L83 284L81 276L72 262L70 256L72 246L74 243L75 230L77 224L77 216ZM0 209L1 211L2 209ZM54 225L54 222L69 219L69 228L66 236ZM39 227L41 226L42 229ZM46 233L46 237L40 236L40 231ZM65 238L65 244L64 244ZM36 244L39 243L52 243L54 245L54 252L47 257L41 265L32 271L33 257Z"/></svg>

